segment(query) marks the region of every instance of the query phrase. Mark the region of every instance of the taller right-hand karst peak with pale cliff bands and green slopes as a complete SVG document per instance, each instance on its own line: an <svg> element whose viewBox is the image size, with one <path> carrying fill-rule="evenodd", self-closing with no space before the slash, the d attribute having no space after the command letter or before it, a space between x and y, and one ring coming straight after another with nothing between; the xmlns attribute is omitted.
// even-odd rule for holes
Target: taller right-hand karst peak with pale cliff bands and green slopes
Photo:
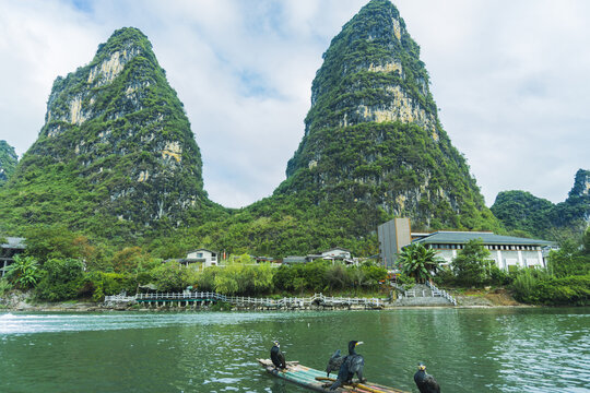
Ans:
<svg viewBox="0 0 590 393"><path fill-rule="evenodd" d="M427 227L496 228L428 85L399 11L369 1L323 53L303 141L276 192L362 205L376 221L385 213Z"/></svg>

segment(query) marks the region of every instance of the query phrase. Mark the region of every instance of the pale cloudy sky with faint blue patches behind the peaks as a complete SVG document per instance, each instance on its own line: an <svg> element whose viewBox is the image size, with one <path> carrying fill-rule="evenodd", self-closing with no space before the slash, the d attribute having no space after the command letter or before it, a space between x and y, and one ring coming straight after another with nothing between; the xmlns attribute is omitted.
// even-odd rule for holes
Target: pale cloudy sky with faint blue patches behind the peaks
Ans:
<svg viewBox="0 0 590 393"><path fill-rule="evenodd" d="M321 55L366 0L0 0L0 140L36 140L56 76L123 26L185 104L210 198L240 207L285 179ZM564 201L590 169L590 1L398 0L445 130L487 205Z"/></svg>

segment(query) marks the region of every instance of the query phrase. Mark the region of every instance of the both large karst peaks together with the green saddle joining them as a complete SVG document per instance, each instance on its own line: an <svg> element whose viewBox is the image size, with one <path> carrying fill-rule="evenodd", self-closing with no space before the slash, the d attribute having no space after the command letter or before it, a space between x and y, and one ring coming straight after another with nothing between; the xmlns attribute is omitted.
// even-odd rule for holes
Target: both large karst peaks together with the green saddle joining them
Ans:
<svg viewBox="0 0 590 393"><path fill-rule="evenodd" d="M202 188L201 157L146 37L121 28L54 83L46 123L0 191L0 231L61 224L162 257L196 246L271 255L378 252L377 225L498 229L439 122L420 47L371 0L323 55L287 179L241 210Z"/></svg>

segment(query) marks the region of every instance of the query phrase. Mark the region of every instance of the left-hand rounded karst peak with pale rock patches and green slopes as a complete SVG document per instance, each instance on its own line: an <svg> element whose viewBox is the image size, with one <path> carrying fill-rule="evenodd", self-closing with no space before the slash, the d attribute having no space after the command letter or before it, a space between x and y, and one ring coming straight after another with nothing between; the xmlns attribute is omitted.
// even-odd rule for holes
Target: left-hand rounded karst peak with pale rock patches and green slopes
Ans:
<svg viewBox="0 0 590 393"><path fill-rule="evenodd" d="M45 120L0 194L4 230L61 223L125 238L213 207L182 104L139 29L116 31L57 78Z"/></svg>

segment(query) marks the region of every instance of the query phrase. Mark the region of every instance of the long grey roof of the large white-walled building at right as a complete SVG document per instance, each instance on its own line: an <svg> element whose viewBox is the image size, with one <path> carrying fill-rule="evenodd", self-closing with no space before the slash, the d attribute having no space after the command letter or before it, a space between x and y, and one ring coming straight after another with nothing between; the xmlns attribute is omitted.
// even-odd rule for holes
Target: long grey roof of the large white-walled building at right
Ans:
<svg viewBox="0 0 590 393"><path fill-rule="evenodd" d="M551 246L554 242L539 239L527 239L514 236L494 235L493 233L476 231L437 231L415 242L425 245L464 245L473 239L482 239L484 245L510 245L510 246Z"/></svg>

